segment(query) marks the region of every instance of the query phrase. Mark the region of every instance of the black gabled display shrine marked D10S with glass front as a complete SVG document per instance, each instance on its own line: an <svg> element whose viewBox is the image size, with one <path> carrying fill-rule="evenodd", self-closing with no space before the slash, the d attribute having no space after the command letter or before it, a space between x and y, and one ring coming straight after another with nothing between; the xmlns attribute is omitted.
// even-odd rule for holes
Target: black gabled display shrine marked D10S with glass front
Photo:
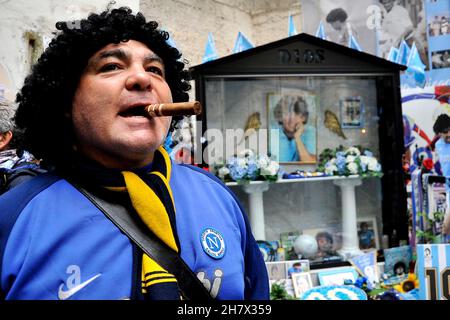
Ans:
<svg viewBox="0 0 450 320"><path fill-rule="evenodd" d="M244 187L229 183L249 213L255 238L273 249L266 259L275 259L273 242L286 249L286 259L298 257L298 252L289 257L289 248L299 235L314 237L318 245L314 255L302 258L321 263L334 256L345 259L346 250L351 256L352 250L381 249L383 235L390 240L385 246L408 239L399 86L403 69L307 34L191 69L196 99L204 106L204 166L250 148L268 154L286 173L316 172L320 155L339 146L369 149L381 163L381 178L356 174ZM221 132L224 139L214 152L208 150L214 144L211 132ZM321 253L325 244L320 236L332 242L330 252L341 254Z"/></svg>

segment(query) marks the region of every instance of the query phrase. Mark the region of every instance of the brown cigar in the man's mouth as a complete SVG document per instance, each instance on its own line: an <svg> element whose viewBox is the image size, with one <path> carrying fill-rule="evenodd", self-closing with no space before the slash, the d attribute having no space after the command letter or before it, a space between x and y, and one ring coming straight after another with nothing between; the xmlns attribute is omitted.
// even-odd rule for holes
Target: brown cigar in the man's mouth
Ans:
<svg viewBox="0 0 450 320"><path fill-rule="evenodd" d="M191 116L202 113L202 105L198 101L157 103L148 105L145 107L145 111L151 117Z"/></svg>

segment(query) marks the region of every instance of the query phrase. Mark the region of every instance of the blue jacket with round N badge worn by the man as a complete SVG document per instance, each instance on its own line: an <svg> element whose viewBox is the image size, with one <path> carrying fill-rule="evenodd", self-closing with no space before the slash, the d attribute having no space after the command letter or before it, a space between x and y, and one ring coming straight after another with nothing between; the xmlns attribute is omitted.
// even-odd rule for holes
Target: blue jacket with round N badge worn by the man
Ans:
<svg viewBox="0 0 450 320"><path fill-rule="evenodd" d="M247 218L214 176L172 166L181 257L217 299L268 299ZM0 197L5 299L129 299L140 290L130 240L67 181L41 175ZM136 289L138 288L138 289Z"/></svg>

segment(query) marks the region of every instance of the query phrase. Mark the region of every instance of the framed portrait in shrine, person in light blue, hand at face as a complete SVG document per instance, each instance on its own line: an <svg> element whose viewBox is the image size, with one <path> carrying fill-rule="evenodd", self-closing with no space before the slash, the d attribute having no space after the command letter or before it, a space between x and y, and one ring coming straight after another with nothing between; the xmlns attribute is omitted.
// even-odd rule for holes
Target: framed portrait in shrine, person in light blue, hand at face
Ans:
<svg viewBox="0 0 450 320"><path fill-rule="evenodd" d="M268 151L279 163L317 163L316 100L301 89L267 94Z"/></svg>

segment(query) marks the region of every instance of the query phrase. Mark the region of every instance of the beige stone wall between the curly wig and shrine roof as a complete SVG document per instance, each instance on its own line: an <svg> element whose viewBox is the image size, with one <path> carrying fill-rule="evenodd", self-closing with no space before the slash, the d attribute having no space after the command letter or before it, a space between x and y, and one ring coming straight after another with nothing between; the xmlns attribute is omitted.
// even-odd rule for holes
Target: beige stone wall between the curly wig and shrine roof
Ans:
<svg viewBox="0 0 450 320"><path fill-rule="evenodd" d="M255 46L285 38L289 13L301 30L300 4L293 0L144 0L140 10L170 33L191 66L202 63L209 32L224 57L232 54L239 31Z"/></svg>

